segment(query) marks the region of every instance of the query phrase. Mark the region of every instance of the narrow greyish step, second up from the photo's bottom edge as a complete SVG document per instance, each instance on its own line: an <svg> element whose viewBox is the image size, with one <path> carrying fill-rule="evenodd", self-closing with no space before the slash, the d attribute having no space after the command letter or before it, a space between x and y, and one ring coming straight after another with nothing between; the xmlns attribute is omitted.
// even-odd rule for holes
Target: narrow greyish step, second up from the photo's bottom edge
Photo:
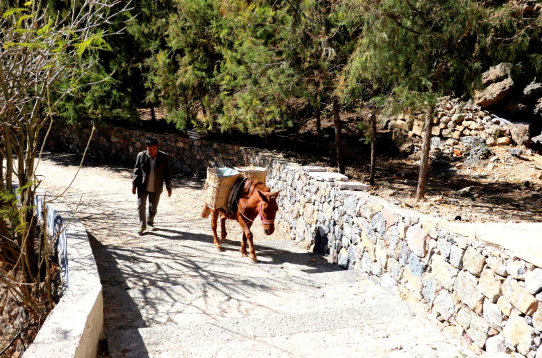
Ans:
<svg viewBox="0 0 542 358"><path fill-rule="evenodd" d="M388 296L386 298L392 298ZM112 356L138 357L154 355L164 349L182 352L186 347L326 332L364 324L388 324L391 327L395 326L397 316L414 318L406 303L390 306L386 300L372 301L286 314L117 329L108 333L108 346Z"/></svg>

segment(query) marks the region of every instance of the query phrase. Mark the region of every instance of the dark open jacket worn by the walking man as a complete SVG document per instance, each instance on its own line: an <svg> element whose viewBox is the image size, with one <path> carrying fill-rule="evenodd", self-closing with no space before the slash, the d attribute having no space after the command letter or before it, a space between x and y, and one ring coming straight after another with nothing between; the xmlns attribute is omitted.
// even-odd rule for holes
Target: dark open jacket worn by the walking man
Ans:
<svg viewBox="0 0 542 358"><path fill-rule="evenodd" d="M138 190L146 190L149 183L149 174L151 173L151 156L149 151L139 152L135 160L134 176L132 187ZM169 165L169 156L163 151L156 154L156 163L154 164L154 193L161 194L164 189L171 190L171 168Z"/></svg>

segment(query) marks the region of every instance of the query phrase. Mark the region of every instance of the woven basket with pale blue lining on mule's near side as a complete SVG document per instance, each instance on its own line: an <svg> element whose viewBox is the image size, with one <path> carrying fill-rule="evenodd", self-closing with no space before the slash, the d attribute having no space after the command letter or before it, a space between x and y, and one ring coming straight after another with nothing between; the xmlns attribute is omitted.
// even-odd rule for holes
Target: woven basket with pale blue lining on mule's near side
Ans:
<svg viewBox="0 0 542 358"><path fill-rule="evenodd" d="M239 172L231 168L207 168L203 192L207 191L205 202L209 208L214 210L226 206L231 187L238 176Z"/></svg>

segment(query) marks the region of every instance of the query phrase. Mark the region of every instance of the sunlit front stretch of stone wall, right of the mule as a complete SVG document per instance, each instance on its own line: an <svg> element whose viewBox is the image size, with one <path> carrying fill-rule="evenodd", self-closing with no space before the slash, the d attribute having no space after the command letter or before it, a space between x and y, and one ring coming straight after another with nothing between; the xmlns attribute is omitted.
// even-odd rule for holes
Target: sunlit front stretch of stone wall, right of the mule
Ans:
<svg viewBox="0 0 542 358"><path fill-rule="evenodd" d="M536 354L542 269L436 218L318 182L294 165L275 162L271 173L271 187L281 190L279 207L288 213L280 221L283 235L403 299L425 303L489 353L542 357L542 348Z"/></svg>

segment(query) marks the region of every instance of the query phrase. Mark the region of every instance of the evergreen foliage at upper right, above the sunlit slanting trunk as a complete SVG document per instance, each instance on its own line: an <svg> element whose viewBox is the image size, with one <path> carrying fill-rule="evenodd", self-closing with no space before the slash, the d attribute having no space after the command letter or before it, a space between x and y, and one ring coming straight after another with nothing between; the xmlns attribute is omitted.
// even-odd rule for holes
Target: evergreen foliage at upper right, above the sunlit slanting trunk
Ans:
<svg viewBox="0 0 542 358"><path fill-rule="evenodd" d="M338 89L350 101L421 109L444 94L472 94L479 75L500 62L540 74L540 14L466 1L363 1L363 33Z"/></svg>

